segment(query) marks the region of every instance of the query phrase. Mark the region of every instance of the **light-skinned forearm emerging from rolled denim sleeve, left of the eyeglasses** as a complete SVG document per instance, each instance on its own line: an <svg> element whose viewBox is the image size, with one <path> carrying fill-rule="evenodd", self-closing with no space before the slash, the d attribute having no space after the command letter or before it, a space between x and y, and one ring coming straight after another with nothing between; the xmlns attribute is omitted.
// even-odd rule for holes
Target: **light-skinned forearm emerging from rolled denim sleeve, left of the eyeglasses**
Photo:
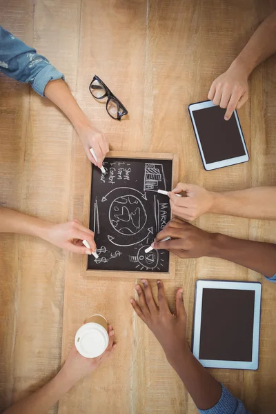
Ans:
<svg viewBox="0 0 276 414"><path fill-rule="evenodd" d="M78 134L81 133L82 128L89 124L88 118L79 108L77 101L64 81L57 79L57 81L48 82L44 94L70 119Z"/></svg>

